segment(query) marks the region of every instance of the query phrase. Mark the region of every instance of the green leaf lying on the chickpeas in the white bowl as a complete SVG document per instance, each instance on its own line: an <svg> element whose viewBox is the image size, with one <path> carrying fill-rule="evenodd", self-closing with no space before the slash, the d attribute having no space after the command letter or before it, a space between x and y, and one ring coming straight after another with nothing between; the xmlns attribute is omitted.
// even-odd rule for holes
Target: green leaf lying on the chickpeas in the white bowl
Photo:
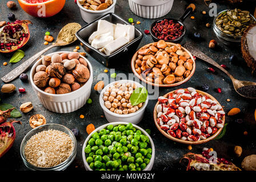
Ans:
<svg viewBox="0 0 256 182"><path fill-rule="evenodd" d="M145 87L137 88L130 97L131 105L135 106L147 100L147 89Z"/></svg>

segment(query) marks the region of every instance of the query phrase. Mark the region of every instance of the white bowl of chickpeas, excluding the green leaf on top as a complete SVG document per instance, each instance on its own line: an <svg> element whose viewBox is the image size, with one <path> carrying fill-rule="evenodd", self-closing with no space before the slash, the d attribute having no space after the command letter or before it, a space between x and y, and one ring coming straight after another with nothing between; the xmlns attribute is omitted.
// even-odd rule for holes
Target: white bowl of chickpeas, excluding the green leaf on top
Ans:
<svg viewBox="0 0 256 182"><path fill-rule="evenodd" d="M149 96L145 102L133 106L130 97L136 88L143 88L143 85L132 80L118 80L105 86L99 96L99 104L108 122L122 121L137 125L141 121Z"/></svg>

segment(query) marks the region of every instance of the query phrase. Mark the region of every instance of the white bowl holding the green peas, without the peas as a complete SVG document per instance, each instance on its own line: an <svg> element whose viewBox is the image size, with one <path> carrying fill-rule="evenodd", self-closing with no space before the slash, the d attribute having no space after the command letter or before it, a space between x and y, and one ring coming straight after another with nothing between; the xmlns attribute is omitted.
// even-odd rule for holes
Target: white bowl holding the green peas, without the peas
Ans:
<svg viewBox="0 0 256 182"><path fill-rule="evenodd" d="M85 166L86 171L93 171L93 169L91 169L89 167L89 164L86 161L85 158L85 147L86 144L88 143L89 139L91 138L91 135L93 135L95 132L98 132L101 129L104 129L105 127L107 127L108 125L113 125L113 126L117 126L117 125L127 125L127 122L115 122L115 123L107 123L106 125L102 125L100 127L98 127L97 129L95 129L85 140L85 143L83 143L83 149L82 149L82 157L83 157L83 165ZM155 146L154 146L154 142L151 139L150 135L143 130L141 127L137 126L137 125L133 125L136 129L141 130L141 132L146 135L147 137L149 137L150 143L151 143L151 148L152 148L152 154L151 154L151 159L149 164L147 164L147 167L145 169L143 169L143 171L151 171L153 164L154 164L154 160L155 160Z"/></svg>

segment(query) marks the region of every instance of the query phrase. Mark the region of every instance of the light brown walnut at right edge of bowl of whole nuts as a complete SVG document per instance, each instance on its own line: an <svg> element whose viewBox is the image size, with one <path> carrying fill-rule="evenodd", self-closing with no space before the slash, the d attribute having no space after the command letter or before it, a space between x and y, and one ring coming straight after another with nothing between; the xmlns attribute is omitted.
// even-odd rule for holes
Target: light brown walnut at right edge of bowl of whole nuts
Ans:
<svg viewBox="0 0 256 182"><path fill-rule="evenodd" d="M75 79L80 83L86 82L90 77L89 69L83 64L76 65L72 72Z"/></svg>

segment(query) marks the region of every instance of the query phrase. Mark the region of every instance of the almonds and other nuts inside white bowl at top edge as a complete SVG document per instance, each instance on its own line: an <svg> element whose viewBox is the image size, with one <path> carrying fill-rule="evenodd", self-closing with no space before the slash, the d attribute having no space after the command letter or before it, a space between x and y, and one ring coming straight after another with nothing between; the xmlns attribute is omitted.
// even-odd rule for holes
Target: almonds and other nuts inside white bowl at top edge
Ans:
<svg viewBox="0 0 256 182"><path fill-rule="evenodd" d="M80 5L87 10L105 10L113 4L113 0L79 0Z"/></svg>

